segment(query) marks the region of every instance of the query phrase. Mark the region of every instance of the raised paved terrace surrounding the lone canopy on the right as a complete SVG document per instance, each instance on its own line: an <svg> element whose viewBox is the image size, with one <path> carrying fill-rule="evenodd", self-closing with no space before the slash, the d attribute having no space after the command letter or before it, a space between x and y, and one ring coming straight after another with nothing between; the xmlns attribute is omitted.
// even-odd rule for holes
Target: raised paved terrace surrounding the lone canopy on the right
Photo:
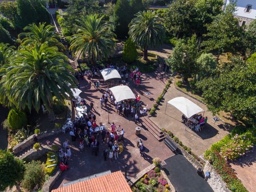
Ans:
<svg viewBox="0 0 256 192"><path fill-rule="evenodd" d="M170 104L166 107L166 103L169 100L181 96L188 98L205 110L204 116L208 117L208 122L204 130L201 132L195 132L189 128L185 129L184 124L181 123L182 112ZM212 113L207 110L207 107L204 104L190 98L179 90L176 90L176 88L174 88L174 84L171 84L171 87L165 94L164 99L159 105L159 109L156 110L156 113L156 116L150 117L150 119L159 128L166 128L173 132L173 134L177 136L184 145L190 147L192 152L198 156L202 155L214 142L219 141L228 134L221 122L217 122L215 125L213 124Z"/></svg>

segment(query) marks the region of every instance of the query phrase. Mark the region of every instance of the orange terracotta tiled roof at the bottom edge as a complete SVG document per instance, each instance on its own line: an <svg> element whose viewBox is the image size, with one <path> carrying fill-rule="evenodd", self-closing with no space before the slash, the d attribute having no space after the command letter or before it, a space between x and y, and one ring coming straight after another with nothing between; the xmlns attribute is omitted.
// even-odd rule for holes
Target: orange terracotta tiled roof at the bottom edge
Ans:
<svg viewBox="0 0 256 192"><path fill-rule="evenodd" d="M121 171L106 174L65 187L52 192L132 192Z"/></svg>

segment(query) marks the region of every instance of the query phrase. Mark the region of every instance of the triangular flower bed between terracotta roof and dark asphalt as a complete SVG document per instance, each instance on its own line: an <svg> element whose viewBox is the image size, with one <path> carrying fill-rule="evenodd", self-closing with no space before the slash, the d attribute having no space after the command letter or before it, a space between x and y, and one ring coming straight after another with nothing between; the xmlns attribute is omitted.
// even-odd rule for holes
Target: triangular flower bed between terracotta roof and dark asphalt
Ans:
<svg viewBox="0 0 256 192"><path fill-rule="evenodd" d="M169 192L170 187L160 168L150 170L132 188L133 192Z"/></svg>

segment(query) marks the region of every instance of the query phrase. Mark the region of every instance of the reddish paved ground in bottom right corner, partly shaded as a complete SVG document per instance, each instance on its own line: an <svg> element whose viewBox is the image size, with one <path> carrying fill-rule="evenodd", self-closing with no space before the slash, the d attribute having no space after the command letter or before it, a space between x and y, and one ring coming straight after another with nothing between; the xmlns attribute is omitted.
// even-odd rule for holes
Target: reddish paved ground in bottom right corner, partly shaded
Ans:
<svg viewBox="0 0 256 192"><path fill-rule="evenodd" d="M230 164L249 192L256 192L256 150Z"/></svg>

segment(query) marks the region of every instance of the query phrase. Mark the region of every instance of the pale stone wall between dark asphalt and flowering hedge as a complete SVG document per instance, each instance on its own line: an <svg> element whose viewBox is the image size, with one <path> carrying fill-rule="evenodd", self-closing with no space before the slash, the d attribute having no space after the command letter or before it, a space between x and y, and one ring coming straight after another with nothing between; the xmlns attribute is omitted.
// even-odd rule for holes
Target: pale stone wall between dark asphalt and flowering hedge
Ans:
<svg viewBox="0 0 256 192"><path fill-rule="evenodd" d="M214 192L230 192L226 183L222 180L221 176L214 170L208 161L206 161L204 166L204 175L206 175L207 171L210 172L210 177L208 178L207 182Z"/></svg>

